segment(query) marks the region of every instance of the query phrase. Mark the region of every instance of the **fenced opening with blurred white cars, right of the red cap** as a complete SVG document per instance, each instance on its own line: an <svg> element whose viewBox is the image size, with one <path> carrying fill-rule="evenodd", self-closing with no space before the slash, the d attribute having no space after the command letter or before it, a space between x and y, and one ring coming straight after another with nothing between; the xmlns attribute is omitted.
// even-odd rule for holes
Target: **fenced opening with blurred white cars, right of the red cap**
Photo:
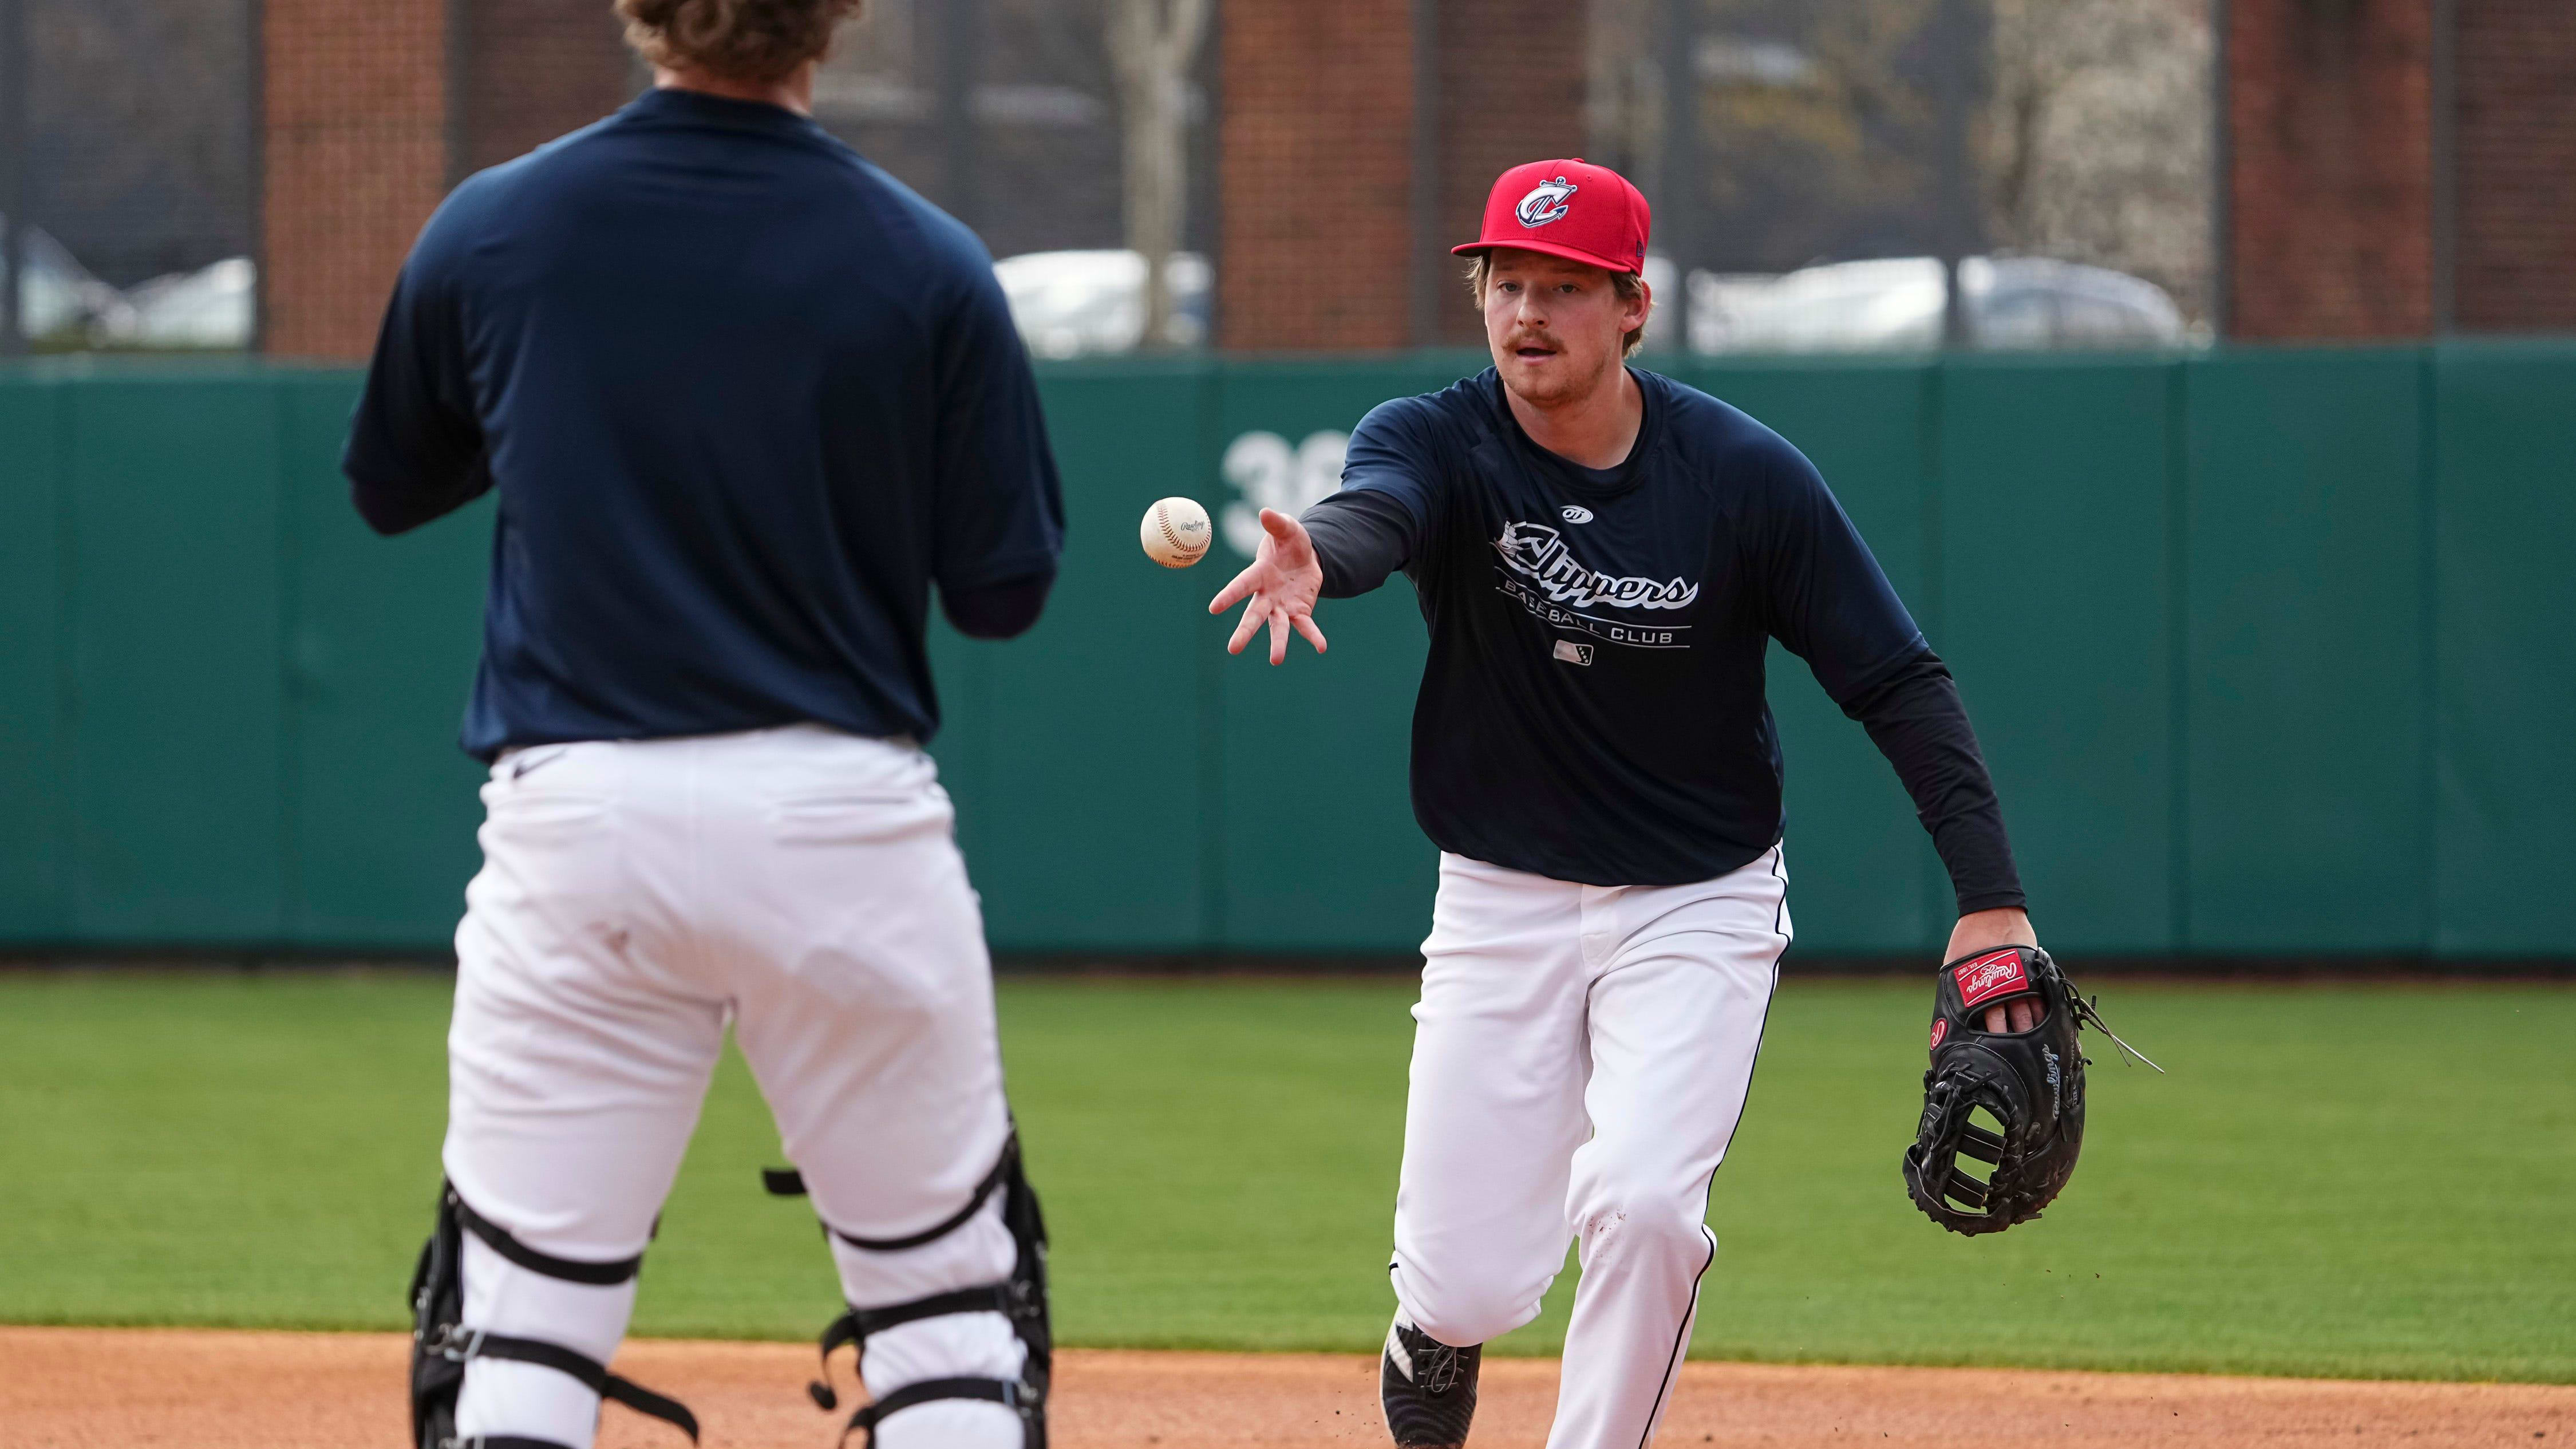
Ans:
<svg viewBox="0 0 2576 1449"><path fill-rule="evenodd" d="M1692 351L2174 345L2215 304L2208 0L1592 0Z"/></svg>

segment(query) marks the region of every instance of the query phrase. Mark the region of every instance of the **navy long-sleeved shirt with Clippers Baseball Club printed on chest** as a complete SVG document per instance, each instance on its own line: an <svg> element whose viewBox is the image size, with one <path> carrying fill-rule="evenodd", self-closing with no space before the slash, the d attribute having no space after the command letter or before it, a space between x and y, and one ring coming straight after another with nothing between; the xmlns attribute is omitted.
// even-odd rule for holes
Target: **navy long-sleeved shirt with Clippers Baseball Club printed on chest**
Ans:
<svg viewBox="0 0 2576 1449"><path fill-rule="evenodd" d="M1309 511L1324 593L1404 567L1430 624L1414 815L1443 848L1587 884L1687 884L1780 841L1780 639L1899 763L1963 910L2022 905L1947 670L1816 467L1638 371L1615 469L1522 433L1489 369L1376 407Z"/></svg>

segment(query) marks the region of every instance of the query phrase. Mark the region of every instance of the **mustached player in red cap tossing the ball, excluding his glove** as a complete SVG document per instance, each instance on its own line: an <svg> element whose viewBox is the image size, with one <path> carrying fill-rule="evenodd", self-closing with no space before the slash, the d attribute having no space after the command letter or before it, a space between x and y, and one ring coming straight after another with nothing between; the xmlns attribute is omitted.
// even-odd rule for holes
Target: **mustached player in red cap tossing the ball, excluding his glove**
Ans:
<svg viewBox="0 0 2576 1449"><path fill-rule="evenodd" d="M1625 366L1646 199L1579 160L1494 183L1494 366L1373 410L1342 492L1262 513L1231 650L1404 570L1430 624L1414 815L1440 846L1391 1263L1386 1423L1463 1444L1479 1346L1582 1253L1551 1449L1654 1439L1710 1176L1790 944L1770 639L1888 755L1958 890L1950 957L2038 941L1947 668L1798 449ZM1991 1008L1996 1029L2032 1003ZM2020 1013L2020 1016L2012 1016Z"/></svg>

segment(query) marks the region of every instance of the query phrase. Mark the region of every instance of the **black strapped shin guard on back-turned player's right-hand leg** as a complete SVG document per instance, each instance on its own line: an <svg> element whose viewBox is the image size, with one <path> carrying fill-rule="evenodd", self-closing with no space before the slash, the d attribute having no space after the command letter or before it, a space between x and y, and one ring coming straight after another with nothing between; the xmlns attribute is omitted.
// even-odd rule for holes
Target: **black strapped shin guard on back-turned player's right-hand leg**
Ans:
<svg viewBox="0 0 2576 1449"><path fill-rule="evenodd" d="M778 1196L804 1194L804 1178L793 1168L770 1168L762 1171L760 1178L768 1191ZM806 1385L806 1392L822 1410L840 1408L840 1392L832 1390L835 1348L850 1346L866 1356L871 1333L881 1333L896 1323L917 1323L922 1318L945 1318L953 1312L999 1312L1007 1318L1012 1333L1020 1336L1020 1346L1025 1348L1020 1377L922 1379L917 1385L904 1385L881 1400L860 1405L842 1426L842 1439L853 1431L866 1431L866 1444L873 1446L876 1426L896 1410L930 1400L984 1400L1005 1405L1020 1415L1023 1449L1046 1449L1046 1385L1054 1377L1056 1364L1054 1330L1046 1312L1046 1214L1038 1212L1038 1194L1028 1186L1028 1171L1020 1165L1018 1129L1012 1129L1012 1134L1002 1142L1002 1158L989 1173L984 1173L984 1181L976 1186L974 1196L966 1199L966 1207L953 1212L945 1222L907 1238L855 1238L829 1225L824 1232L871 1253L902 1253L904 1248L920 1248L966 1227L966 1222L984 1209L994 1191L1002 1194L1002 1222L1018 1243L1018 1258L1010 1279L974 1289L930 1294L891 1307L853 1307L842 1312L829 1328L822 1330L822 1377Z"/></svg>

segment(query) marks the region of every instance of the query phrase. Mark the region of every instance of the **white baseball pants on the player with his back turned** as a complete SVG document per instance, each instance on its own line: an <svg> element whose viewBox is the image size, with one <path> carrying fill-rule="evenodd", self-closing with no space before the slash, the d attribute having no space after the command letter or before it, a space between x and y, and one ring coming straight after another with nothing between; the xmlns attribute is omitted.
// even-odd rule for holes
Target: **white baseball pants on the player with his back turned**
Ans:
<svg viewBox="0 0 2576 1449"><path fill-rule="evenodd" d="M726 1024L829 1227L902 1238L966 1204L1007 1109L984 926L930 755L822 727L544 745L495 763L482 797L443 1150L469 1207L538 1253L641 1253ZM1015 1245L994 1194L922 1248L835 1238L832 1258L850 1305L886 1307L1002 1281ZM466 1328L608 1361L634 1294L466 1235ZM866 1382L1012 1379L1020 1359L997 1312L927 1318L868 1338ZM456 1428L587 1449L598 1410L567 1374L474 1359ZM1020 1449L1020 1423L933 1400L878 1444Z"/></svg>

